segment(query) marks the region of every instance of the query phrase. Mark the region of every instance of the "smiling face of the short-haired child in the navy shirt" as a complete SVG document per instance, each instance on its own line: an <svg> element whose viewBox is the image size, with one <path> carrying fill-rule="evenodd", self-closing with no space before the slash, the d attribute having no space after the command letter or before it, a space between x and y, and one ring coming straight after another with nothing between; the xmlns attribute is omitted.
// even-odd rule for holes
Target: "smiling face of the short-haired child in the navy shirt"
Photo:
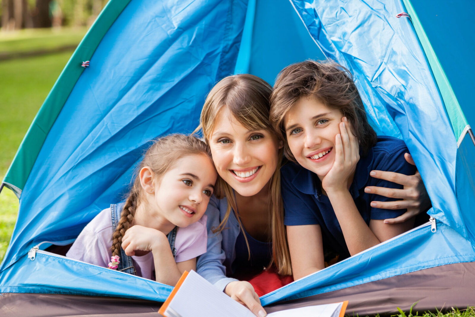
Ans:
<svg viewBox="0 0 475 317"><path fill-rule="evenodd" d="M335 137L340 133L342 113L315 98L300 98L285 115L284 128L290 151L297 162L325 176L335 161Z"/></svg>

